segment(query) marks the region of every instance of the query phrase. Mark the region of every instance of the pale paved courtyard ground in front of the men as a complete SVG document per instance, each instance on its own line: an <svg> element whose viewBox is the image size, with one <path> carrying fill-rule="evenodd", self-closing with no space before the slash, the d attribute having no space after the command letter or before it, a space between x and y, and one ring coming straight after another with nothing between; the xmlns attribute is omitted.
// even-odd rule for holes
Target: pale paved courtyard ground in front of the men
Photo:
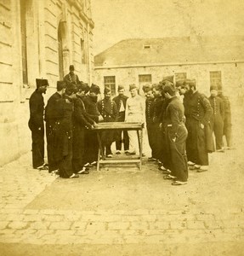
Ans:
<svg viewBox="0 0 244 256"><path fill-rule="evenodd" d="M235 150L211 154L209 171L179 187L146 160L141 172L61 179L23 155L0 169L1 255L244 255L244 143L234 131Z"/></svg>

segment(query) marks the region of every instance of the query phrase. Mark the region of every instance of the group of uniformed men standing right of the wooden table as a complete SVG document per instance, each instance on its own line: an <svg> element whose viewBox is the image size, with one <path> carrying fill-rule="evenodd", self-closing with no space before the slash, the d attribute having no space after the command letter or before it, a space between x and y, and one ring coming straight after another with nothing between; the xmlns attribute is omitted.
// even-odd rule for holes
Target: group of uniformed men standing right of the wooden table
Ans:
<svg viewBox="0 0 244 256"><path fill-rule="evenodd" d="M173 185L187 183L188 169L206 172L208 153L215 147L224 152L223 136L230 149L230 102L217 87L211 86L207 98L196 89L196 80L174 83L168 76L143 90L150 160L159 162L164 178L173 179Z"/></svg>

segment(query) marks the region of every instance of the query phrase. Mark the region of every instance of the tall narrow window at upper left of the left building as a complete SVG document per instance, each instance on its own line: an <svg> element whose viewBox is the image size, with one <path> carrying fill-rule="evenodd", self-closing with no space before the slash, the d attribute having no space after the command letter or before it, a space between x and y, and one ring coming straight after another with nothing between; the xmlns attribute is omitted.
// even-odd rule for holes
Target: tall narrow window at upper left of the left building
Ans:
<svg viewBox="0 0 244 256"><path fill-rule="evenodd" d="M23 84L28 84L27 49L26 49L26 1L20 2L20 29Z"/></svg>

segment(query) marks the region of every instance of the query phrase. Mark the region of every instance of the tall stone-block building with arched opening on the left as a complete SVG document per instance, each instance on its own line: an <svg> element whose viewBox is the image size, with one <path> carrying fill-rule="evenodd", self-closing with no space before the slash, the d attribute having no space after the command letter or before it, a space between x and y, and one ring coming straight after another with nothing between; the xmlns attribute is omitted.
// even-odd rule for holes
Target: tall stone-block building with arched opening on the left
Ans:
<svg viewBox="0 0 244 256"><path fill-rule="evenodd" d="M0 165L31 150L29 97L48 79L45 101L73 64L91 83L90 0L0 0Z"/></svg>

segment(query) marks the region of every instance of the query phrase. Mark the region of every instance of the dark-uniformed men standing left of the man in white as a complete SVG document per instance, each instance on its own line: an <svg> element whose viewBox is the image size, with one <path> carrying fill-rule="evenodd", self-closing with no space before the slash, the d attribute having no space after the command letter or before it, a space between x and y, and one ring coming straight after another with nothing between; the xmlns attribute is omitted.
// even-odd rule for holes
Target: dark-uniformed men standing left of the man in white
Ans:
<svg viewBox="0 0 244 256"><path fill-rule="evenodd" d="M88 166L94 166L98 158L98 141L94 125L99 121L120 121L125 118L127 97L121 95L111 101L111 90L105 88L105 98L99 102L99 86L57 82L57 92L48 99L44 111L43 93L46 93L47 79L37 79L37 90L30 98L29 127L32 137L32 164L39 170L59 170L60 177L77 177L88 174ZM123 91L124 89L121 88ZM116 105L117 102L117 105ZM119 109L117 108L119 107ZM43 112L45 112L43 119ZM44 164L44 120L48 143L48 166ZM122 148L121 133L105 133L103 147L111 156L111 143L116 141L118 152ZM125 149L128 137L124 134Z"/></svg>

